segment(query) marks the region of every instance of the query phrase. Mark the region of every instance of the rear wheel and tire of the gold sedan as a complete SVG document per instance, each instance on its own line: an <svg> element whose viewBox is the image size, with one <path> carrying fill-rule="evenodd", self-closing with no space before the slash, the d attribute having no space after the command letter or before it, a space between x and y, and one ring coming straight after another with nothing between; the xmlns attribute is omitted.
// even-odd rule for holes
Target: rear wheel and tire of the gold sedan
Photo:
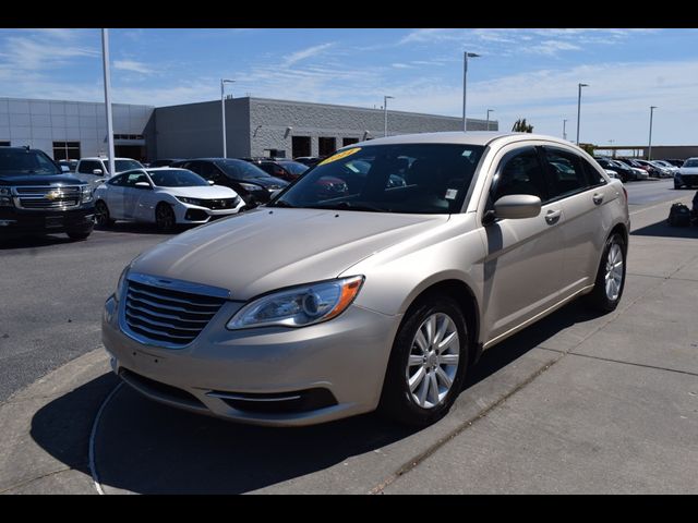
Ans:
<svg viewBox="0 0 698 523"><path fill-rule="evenodd" d="M613 254L611 254L612 252ZM618 258L618 255L621 258ZM593 291L587 296L587 303L590 307L601 313L615 311L625 288L626 260L627 245L623 235L615 232L606 240L601 262L599 263ZM621 266L617 265L618 262ZM614 283L606 283L607 278L613 280Z"/></svg>

